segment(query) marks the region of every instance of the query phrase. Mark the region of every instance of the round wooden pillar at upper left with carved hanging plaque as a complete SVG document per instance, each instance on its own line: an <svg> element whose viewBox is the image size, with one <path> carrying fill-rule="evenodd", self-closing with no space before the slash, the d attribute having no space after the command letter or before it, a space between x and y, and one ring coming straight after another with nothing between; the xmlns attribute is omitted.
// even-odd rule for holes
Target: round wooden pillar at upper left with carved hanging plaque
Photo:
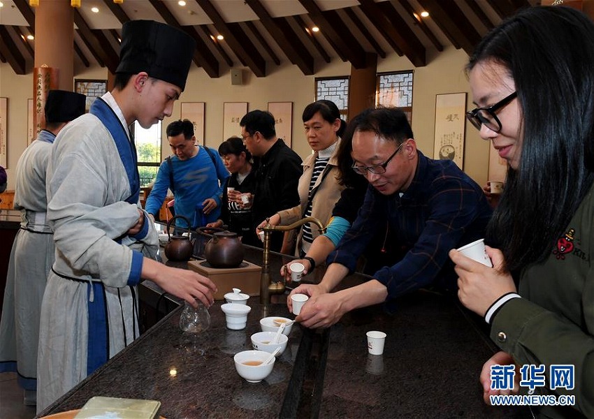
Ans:
<svg viewBox="0 0 594 419"><path fill-rule="evenodd" d="M73 91L74 10L70 1L40 0L35 9L34 127L45 126L50 89Z"/></svg>

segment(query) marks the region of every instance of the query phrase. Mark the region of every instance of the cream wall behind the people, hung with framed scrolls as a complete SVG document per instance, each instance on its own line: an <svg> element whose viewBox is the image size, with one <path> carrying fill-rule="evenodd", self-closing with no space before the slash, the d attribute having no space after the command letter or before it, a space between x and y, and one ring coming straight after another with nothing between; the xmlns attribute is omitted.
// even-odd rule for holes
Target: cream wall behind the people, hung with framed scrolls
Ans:
<svg viewBox="0 0 594 419"><path fill-rule="evenodd" d="M444 52L428 50L428 65L414 68L412 129L421 152L433 156L435 129L435 95L468 92L468 109L473 108L472 98L463 68L468 56L463 50L448 47ZM379 59L378 72L410 70L412 64L405 57L391 54ZM305 76L289 63L268 71L266 78L256 78L247 68L243 69L243 84L232 85L229 72L212 79L201 68L192 66L186 89L175 103L171 118L164 119L163 131L173 120L180 118L182 102L205 102L205 144L215 149L223 138L223 103L248 102L248 110L268 108L268 102L293 102L293 149L305 157L311 152L303 136L301 112L315 98L315 77L349 75L350 64L335 60L324 64L315 76ZM107 79L107 69L82 68L75 78ZM16 163L27 145L27 98L32 97L32 75L15 75L8 64L0 63L0 97L8 97L8 189L14 189ZM237 135L240 135L238 126ZM163 133L163 157L169 154ZM479 184L488 175L489 143L479 138L478 131L466 124L464 170Z"/></svg>

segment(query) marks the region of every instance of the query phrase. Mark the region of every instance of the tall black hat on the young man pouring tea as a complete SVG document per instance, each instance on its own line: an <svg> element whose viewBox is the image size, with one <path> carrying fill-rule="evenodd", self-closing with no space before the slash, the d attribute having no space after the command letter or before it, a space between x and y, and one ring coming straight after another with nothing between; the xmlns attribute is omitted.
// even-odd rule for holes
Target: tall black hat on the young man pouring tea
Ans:
<svg viewBox="0 0 594 419"><path fill-rule="evenodd" d="M119 66L115 73L138 74L180 87L186 79L196 49L194 38L180 29L153 20L130 20L122 27Z"/></svg>

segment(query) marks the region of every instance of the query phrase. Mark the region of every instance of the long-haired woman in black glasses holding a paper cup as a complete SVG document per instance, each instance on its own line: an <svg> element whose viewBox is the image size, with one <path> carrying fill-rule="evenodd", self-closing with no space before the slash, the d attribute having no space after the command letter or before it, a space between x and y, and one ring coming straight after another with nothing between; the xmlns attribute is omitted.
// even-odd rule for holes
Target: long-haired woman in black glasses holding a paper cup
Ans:
<svg viewBox="0 0 594 419"><path fill-rule="evenodd" d="M594 418L594 24L529 8L477 45L468 74L468 119L509 163L488 226L493 268L450 252L461 302L501 350L481 372L485 402L533 391L565 404L539 417Z"/></svg>

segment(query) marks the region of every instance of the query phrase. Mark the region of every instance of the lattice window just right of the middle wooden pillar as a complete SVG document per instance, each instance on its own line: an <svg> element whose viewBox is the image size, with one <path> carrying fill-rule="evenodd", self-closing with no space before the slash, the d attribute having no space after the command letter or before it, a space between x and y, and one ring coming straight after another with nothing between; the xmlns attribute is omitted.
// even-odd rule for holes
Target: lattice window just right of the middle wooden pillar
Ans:
<svg viewBox="0 0 594 419"><path fill-rule="evenodd" d="M375 104L401 108L412 124L412 71L378 74Z"/></svg>

